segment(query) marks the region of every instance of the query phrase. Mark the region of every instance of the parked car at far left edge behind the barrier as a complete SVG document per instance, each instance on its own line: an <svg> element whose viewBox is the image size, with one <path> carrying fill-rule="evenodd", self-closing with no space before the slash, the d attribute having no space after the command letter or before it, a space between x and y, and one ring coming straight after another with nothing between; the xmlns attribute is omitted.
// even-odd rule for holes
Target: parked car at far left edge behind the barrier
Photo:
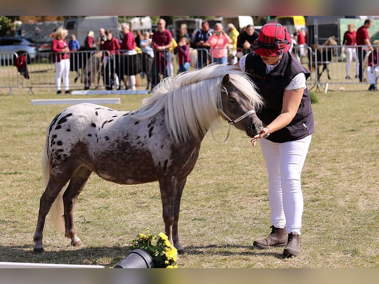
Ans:
<svg viewBox="0 0 379 284"><path fill-rule="evenodd" d="M0 53L2 54L12 54L13 52L17 53L17 55L27 54L27 60L30 62L30 59L36 57L37 51L36 44L30 39L22 37L0 37ZM12 58L12 60L14 60L14 58Z"/></svg>

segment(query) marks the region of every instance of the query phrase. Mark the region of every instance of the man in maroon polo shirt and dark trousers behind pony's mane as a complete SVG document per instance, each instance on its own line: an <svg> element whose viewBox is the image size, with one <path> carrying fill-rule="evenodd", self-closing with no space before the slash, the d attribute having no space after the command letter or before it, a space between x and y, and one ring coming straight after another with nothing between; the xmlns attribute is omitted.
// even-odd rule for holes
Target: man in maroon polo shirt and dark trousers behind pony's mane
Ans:
<svg viewBox="0 0 379 284"><path fill-rule="evenodd" d="M151 78L151 89L153 89L160 81L160 74L165 77L167 66L165 53L172 47L172 34L166 29L166 21L162 18L158 20L158 30L152 36L151 46L155 54Z"/></svg>

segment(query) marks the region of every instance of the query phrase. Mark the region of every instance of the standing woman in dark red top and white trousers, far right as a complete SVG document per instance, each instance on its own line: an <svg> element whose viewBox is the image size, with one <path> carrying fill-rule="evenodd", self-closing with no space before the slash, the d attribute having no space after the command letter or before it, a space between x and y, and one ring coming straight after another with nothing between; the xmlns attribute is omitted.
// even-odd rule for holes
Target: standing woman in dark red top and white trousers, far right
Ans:
<svg viewBox="0 0 379 284"><path fill-rule="evenodd" d="M347 31L343 34L342 41L342 53L346 54L346 79L350 79L350 65L355 60L355 78L358 78L359 75L359 59L357 56L357 41L356 41L357 32L354 31L354 24L347 25Z"/></svg>

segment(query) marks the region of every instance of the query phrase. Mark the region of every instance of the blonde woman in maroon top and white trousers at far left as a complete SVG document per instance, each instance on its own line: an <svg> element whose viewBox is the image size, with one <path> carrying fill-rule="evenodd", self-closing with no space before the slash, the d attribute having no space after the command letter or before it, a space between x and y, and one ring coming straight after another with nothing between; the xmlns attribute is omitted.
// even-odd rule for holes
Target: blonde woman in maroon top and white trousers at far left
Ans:
<svg viewBox="0 0 379 284"><path fill-rule="evenodd" d="M70 48L65 40L68 31L59 28L54 33L54 39L51 43L52 62L55 65L55 87L56 94L62 94L61 81L63 79L63 87L65 94L71 94L69 90L69 73L70 73Z"/></svg>

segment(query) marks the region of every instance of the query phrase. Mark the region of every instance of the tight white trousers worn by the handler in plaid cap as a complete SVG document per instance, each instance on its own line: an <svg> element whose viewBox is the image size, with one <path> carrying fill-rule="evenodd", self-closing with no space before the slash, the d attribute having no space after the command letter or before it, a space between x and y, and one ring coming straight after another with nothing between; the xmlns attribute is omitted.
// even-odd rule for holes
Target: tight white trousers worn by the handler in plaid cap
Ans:
<svg viewBox="0 0 379 284"><path fill-rule="evenodd" d="M311 139L312 135L284 143L260 140L269 178L271 223L276 228L285 226L287 234L300 235L304 206L301 170Z"/></svg>

